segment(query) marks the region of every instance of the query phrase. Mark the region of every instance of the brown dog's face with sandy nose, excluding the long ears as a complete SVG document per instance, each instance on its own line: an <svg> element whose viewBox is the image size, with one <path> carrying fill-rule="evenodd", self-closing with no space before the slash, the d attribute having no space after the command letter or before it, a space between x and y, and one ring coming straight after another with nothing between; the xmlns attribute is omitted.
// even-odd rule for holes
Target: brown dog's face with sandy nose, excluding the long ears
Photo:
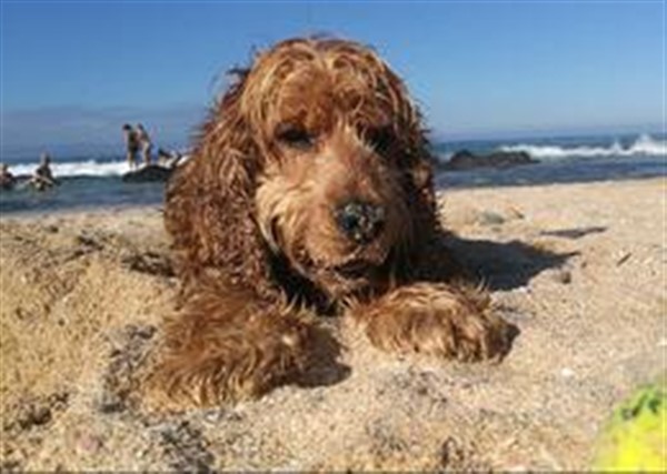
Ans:
<svg viewBox="0 0 667 474"><path fill-rule="evenodd" d="M270 249L334 297L388 284L414 238L422 140L400 80L354 43L281 43L248 73L241 110Z"/></svg>

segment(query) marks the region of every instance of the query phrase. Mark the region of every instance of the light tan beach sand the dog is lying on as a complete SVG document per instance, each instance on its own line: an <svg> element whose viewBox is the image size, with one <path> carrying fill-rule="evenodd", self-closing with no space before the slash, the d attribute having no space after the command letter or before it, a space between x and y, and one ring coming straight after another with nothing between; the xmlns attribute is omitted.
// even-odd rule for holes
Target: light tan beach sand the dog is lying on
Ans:
<svg viewBox="0 0 667 474"><path fill-rule="evenodd" d="M401 360L334 320L337 380L181 414L135 376L177 292L161 211L4 215L0 468L585 468L613 405L667 372L666 184L441 194L520 330L499 364Z"/></svg>

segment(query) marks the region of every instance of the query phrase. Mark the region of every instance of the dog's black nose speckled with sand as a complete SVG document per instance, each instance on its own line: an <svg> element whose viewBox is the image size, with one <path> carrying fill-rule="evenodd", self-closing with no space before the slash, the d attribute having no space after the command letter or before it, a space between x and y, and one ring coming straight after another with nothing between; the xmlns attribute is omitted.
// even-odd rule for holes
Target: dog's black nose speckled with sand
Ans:
<svg viewBox="0 0 667 474"><path fill-rule="evenodd" d="M367 202L348 202L336 212L338 228L357 243L372 241L385 223L385 210Z"/></svg>

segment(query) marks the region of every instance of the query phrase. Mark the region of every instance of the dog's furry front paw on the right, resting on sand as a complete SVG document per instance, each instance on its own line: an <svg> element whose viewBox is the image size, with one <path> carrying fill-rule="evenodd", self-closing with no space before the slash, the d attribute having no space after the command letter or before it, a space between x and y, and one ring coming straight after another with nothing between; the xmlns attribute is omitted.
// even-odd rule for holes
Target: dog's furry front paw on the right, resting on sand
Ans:
<svg viewBox="0 0 667 474"><path fill-rule="evenodd" d="M446 284L399 288L357 309L368 337L379 349L459 361L499 359L514 326L488 309L488 296Z"/></svg>

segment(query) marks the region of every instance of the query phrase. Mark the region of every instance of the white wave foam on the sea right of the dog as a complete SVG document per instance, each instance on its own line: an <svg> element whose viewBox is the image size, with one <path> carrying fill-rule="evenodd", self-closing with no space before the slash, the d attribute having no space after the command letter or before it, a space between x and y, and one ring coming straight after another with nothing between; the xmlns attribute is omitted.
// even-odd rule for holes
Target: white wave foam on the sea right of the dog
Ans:
<svg viewBox="0 0 667 474"><path fill-rule="evenodd" d="M640 135L629 147L624 148L618 141L608 147L558 147L538 144L504 145L500 151L517 152L525 151L536 159L563 159L563 158L604 158L604 157L637 157L655 155L667 157L667 140L655 140L648 134Z"/></svg>

